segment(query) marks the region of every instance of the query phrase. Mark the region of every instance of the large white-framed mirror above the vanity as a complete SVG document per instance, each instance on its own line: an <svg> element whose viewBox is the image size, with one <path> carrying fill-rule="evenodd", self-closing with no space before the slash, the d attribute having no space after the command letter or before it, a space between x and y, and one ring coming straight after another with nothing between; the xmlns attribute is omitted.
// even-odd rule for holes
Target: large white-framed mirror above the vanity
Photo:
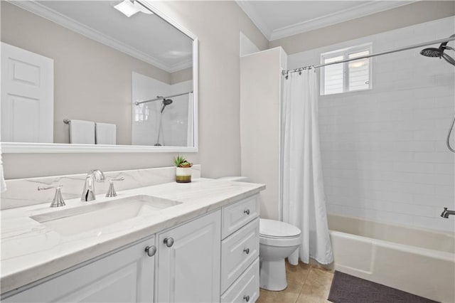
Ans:
<svg viewBox="0 0 455 303"><path fill-rule="evenodd" d="M151 1L1 1L2 152L197 151L197 57Z"/></svg>

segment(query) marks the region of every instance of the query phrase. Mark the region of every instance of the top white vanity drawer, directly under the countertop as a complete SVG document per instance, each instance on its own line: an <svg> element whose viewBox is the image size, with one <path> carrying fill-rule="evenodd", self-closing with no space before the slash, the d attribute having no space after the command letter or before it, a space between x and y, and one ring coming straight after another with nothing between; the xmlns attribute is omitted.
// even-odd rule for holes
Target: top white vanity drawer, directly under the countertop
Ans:
<svg viewBox="0 0 455 303"><path fill-rule="evenodd" d="M259 216L259 195L223 207L221 238L226 238Z"/></svg>

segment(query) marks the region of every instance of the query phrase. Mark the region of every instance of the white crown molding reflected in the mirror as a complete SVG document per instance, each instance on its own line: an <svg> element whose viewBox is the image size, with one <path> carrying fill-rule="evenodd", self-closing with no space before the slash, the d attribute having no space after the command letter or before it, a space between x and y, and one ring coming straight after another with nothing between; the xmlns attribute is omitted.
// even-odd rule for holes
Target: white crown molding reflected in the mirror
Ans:
<svg viewBox="0 0 455 303"><path fill-rule="evenodd" d="M76 33L80 33L82 36L95 40L104 44L105 46L109 46L116 50L121 51L122 53L126 53L127 55L131 55L134 58L137 58L141 61L149 63L151 65L156 66L156 68L161 68L161 70L165 70L168 73L173 73L178 71L181 66L183 68L191 67L192 61L185 61L183 63L178 63L173 66L169 66L168 64L164 63L161 60L158 60L151 55L148 55L141 50L137 50L132 46L127 45L126 43L120 42L114 38L111 38L104 33L100 33L93 28L86 26L78 21L75 21L73 18L69 18L63 14L60 14L58 11L54 11L53 9L49 9L47 6L43 6L43 4L39 4L36 1L9 1L9 3L14 4L21 9L25 9L26 11L30 11L33 14L46 18L54 23L59 24L65 28L70 29L71 31L75 31Z"/></svg>

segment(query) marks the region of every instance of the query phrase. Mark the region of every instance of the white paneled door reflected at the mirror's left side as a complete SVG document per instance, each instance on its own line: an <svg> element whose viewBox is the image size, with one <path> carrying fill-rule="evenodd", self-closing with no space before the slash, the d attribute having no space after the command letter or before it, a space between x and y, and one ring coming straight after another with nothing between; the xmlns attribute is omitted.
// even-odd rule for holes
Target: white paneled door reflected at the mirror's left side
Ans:
<svg viewBox="0 0 455 303"><path fill-rule="evenodd" d="M54 61L1 43L1 141L53 142Z"/></svg>

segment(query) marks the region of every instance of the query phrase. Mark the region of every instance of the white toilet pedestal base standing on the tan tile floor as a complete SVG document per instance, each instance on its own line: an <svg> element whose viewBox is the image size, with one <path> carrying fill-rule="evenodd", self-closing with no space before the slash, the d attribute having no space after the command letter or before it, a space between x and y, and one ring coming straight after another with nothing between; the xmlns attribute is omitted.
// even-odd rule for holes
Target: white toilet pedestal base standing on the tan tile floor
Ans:
<svg viewBox="0 0 455 303"><path fill-rule="evenodd" d="M259 266L259 287L274 292L286 289L287 280L284 259L274 261L261 260Z"/></svg>

